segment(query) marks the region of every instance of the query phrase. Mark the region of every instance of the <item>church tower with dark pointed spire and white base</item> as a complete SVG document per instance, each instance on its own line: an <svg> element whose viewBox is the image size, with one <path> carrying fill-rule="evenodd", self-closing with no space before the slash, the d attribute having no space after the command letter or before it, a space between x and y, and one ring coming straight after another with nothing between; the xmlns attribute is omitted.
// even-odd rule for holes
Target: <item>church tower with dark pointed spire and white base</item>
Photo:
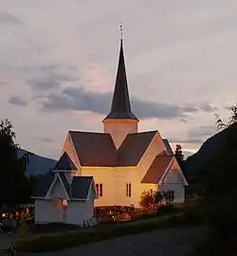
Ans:
<svg viewBox="0 0 237 256"><path fill-rule="evenodd" d="M128 134L137 133L138 130L139 120L132 112L129 99L122 39L120 40L118 71L111 109L102 122L103 132L111 135L117 149Z"/></svg>

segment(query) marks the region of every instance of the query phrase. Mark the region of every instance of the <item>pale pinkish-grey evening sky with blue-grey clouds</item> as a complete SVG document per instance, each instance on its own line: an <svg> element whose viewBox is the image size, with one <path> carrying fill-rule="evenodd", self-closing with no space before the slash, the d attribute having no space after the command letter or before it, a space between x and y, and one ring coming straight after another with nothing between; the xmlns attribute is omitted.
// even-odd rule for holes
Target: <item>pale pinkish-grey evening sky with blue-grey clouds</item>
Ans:
<svg viewBox="0 0 237 256"><path fill-rule="evenodd" d="M237 93L236 0L1 0L0 118L58 158L69 130L102 131L125 63L140 131L195 152Z"/></svg>

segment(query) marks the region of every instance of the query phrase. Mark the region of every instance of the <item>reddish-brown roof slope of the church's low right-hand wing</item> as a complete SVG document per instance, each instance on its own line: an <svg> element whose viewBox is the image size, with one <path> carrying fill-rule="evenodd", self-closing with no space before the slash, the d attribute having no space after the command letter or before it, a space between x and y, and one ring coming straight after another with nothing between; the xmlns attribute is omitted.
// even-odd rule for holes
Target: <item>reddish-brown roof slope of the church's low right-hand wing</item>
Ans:
<svg viewBox="0 0 237 256"><path fill-rule="evenodd" d="M158 184L172 160L173 155L156 155L141 183Z"/></svg>

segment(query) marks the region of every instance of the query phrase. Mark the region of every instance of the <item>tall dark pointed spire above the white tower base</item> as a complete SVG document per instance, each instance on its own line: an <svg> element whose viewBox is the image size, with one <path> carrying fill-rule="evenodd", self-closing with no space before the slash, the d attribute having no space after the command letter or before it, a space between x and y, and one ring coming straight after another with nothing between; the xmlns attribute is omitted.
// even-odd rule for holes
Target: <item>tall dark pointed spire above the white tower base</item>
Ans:
<svg viewBox="0 0 237 256"><path fill-rule="evenodd" d="M123 56L122 38L120 40L118 71L117 71L113 100L111 104L111 110L105 119L138 120L137 117L132 113L131 103L129 99L127 76L126 76L125 62L124 62L124 56Z"/></svg>

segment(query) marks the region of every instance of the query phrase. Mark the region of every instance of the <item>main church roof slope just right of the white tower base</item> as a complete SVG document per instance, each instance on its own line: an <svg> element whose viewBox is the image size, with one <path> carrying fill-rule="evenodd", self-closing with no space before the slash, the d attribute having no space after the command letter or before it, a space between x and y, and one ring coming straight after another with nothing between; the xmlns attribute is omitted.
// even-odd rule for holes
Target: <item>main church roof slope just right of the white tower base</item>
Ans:
<svg viewBox="0 0 237 256"><path fill-rule="evenodd" d="M129 134L118 148L117 166L137 166L156 131Z"/></svg>

